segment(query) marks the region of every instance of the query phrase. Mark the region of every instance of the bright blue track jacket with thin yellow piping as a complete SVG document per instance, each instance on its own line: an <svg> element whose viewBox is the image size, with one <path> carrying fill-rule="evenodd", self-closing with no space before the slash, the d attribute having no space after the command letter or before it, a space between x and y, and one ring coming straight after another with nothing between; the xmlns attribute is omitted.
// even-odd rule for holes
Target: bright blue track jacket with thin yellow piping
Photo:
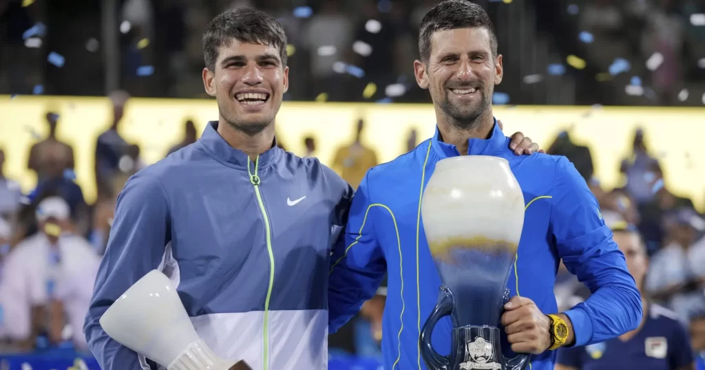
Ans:
<svg viewBox="0 0 705 370"><path fill-rule="evenodd" d="M516 156L509 142L495 125L489 140L470 140L468 154L507 159L524 193L524 228L508 281L511 295L529 297L544 314L556 313L553 285L563 259L594 293L565 312L575 328L576 345L637 328L642 319L639 291L583 178L563 156ZM353 197L345 246L331 257L331 333L374 295L388 273L385 369L426 369L418 350L419 331L436 305L441 279L424 235L421 198L436 162L458 155L436 131L412 152L369 170ZM450 331L450 318L445 317L431 336L441 354L450 352ZM532 356L530 369L553 370L554 359L553 351Z"/></svg>

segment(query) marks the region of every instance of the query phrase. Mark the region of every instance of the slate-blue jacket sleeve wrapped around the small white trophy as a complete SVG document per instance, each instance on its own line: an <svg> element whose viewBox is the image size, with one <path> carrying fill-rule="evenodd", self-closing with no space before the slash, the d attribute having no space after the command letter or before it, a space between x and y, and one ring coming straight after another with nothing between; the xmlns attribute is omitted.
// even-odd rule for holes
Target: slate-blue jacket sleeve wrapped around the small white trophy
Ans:
<svg viewBox="0 0 705 370"><path fill-rule="evenodd" d="M137 280L159 267L170 239L169 219L166 192L157 178L137 173L125 183L83 326L103 370L149 369L136 352L111 339L99 319Z"/></svg>

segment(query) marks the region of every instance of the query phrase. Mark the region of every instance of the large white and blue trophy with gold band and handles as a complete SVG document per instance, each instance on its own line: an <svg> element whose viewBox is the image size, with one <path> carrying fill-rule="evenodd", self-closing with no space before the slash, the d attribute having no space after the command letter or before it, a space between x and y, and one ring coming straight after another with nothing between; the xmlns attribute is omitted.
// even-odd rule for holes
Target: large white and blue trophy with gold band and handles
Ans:
<svg viewBox="0 0 705 370"><path fill-rule="evenodd" d="M500 318L524 224L524 196L506 159L457 156L436 163L424 190L424 232L443 285L419 335L430 370L523 370L528 354L505 359ZM450 354L431 345L450 316Z"/></svg>

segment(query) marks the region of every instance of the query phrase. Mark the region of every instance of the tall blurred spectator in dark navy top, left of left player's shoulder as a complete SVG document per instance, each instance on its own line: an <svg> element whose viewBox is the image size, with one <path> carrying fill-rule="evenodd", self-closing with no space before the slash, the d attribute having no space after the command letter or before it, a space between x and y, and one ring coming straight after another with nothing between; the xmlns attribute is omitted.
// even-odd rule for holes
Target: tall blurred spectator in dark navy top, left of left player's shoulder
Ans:
<svg viewBox="0 0 705 370"><path fill-rule="evenodd" d="M118 91L111 94L113 123L98 137L95 146L95 177L99 193L105 192L112 186L113 177L119 171L120 159L128 151L128 143L118 132L128 99L126 92Z"/></svg>

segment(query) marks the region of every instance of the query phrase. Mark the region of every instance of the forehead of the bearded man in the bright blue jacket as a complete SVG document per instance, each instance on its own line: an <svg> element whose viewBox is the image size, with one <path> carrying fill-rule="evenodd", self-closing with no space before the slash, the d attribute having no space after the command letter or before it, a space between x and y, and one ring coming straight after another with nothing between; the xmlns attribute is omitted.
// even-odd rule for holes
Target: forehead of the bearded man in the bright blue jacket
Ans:
<svg viewBox="0 0 705 370"><path fill-rule="evenodd" d="M465 54L469 51L491 52L489 31L486 28L440 30L431 35L431 55Z"/></svg>

